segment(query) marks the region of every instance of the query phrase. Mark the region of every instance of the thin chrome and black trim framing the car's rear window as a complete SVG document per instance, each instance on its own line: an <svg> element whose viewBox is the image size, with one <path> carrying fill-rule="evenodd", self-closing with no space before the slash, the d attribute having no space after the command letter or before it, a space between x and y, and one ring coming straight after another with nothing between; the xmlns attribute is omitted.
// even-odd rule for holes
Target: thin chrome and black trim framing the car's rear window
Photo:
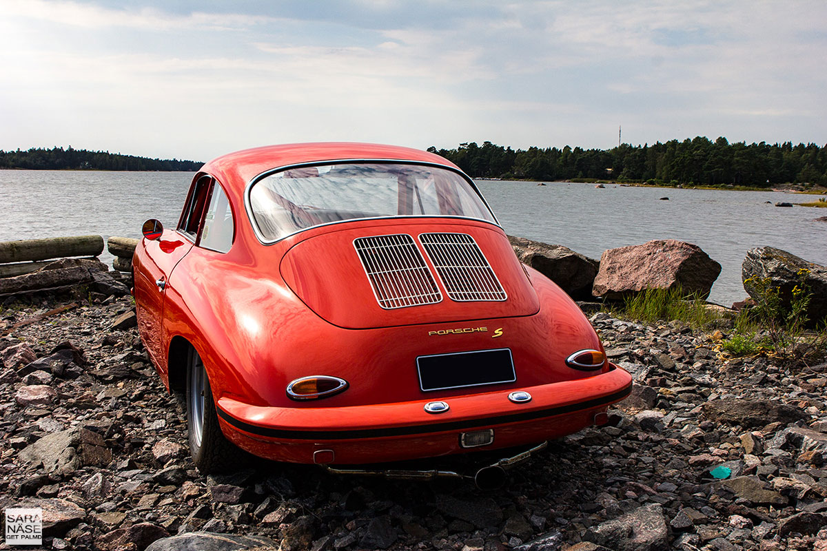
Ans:
<svg viewBox="0 0 827 551"><path fill-rule="evenodd" d="M316 226L309 226L307 228L302 228L300 230L296 230L294 232L291 232L287 235L282 235L279 239L276 239L276 240L265 239L265 236L262 235L261 230L259 230L258 224L256 224L256 216L253 215L252 205L251 205L251 202L250 202L250 192L251 192L252 187L254 185L256 185L256 183L259 183L259 181L262 180L263 178L267 178L268 176L270 176L270 174L275 174L277 172L282 172L284 170L300 169L300 168L308 167L308 166L327 166L329 164L342 164L342 163L348 163L348 164L359 164L359 163L412 164L412 165L418 165L418 166L433 167L433 168L436 168L436 169L445 169L445 170L448 170L450 172L456 173L461 178L466 180L466 182L469 185L471 185L471 189L473 189L474 192L476 192L477 197L480 197L480 201L482 201L482 204L485 205L486 209L488 209L488 212L490 213L490 215L494 219L494 221L492 222L490 220L485 220L484 218L476 218L474 216L422 215L422 214L418 214L418 215L401 214L401 215L389 215L389 216L375 216L375 217L370 217L370 218L349 218L347 220L340 220L340 221L335 221L335 222L325 222L324 224L318 224ZM394 219L403 219L403 218L419 218L419 219L423 219L423 218L439 218L439 219L447 218L447 219L453 219L453 220L475 220L475 221L486 222L486 223L491 224L493 226L497 226L500 229L502 229L502 227L503 227L503 226L500 225L500 221L497 220L497 216L494 214L494 211L491 210L491 207L488 204L488 202L485 201L485 197L483 197L480 190L476 187L476 183L474 183L474 180L472 180L471 177L468 176L466 173L462 172L459 169L455 169L453 167L447 166L445 164L432 163L432 162L429 162L429 161L414 161L414 160L409 160L409 159L325 159L325 160L319 160L319 161L308 161L308 162L305 162L305 163L284 164L284 165L281 165L281 166L276 167L274 169L267 169L264 172L256 174L256 176L251 178L250 182L247 183L246 188L244 188L244 210L246 211L246 214L247 214L247 221L250 222L250 226L252 227L253 233L256 234L256 239L259 240L261 245L274 245L275 243L278 243L281 240L285 240L289 237L292 237L293 235L300 234L300 233L302 233L304 231L307 231L307 230L313 230L314 228L321 228L321 227L324 227L324 226L333 226L333 225L336 225L336 224L347 224L348 222L363 221L363 220L394 220Z"/></svg>

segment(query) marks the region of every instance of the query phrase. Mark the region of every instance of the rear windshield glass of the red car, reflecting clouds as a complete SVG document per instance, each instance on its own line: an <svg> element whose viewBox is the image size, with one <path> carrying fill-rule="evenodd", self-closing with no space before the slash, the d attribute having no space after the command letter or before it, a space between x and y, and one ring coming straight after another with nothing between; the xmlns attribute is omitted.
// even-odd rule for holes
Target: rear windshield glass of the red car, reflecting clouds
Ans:
<svg viewBox="0 0 827 551"><path fill-rule="evenodd" d="M332 222L386 216L463 216L495 222L480 194L447 169L418 164L326 164L270 174L250 190L267 241Z"/></svg>

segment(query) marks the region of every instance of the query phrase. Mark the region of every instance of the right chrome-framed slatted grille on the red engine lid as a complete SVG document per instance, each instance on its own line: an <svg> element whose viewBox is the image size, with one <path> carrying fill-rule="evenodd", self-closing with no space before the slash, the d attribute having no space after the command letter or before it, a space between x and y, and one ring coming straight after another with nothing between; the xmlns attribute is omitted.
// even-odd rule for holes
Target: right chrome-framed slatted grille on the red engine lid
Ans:
<svg viewBox="0 0 827 551"><path fill-rule="evenodd" d="M419 242L453 301L504 301L508 298L471 235L421 234Z"/></svg>

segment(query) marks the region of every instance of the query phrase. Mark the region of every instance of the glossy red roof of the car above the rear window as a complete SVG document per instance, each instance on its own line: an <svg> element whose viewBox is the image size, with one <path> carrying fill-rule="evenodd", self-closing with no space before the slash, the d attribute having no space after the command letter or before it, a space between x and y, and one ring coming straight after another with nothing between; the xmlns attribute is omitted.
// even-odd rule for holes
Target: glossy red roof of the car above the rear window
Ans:
<svg viewBox="0 0 827 551"><path fill-rule="evenodd" d="M203 165L199 173L210 173L228 192L242 193L252 178L271 169L293 164L332 160L406 160L440 164L459 170L456 164L428 151L397 145L350 142L266 145L222 155Z"/></svg>

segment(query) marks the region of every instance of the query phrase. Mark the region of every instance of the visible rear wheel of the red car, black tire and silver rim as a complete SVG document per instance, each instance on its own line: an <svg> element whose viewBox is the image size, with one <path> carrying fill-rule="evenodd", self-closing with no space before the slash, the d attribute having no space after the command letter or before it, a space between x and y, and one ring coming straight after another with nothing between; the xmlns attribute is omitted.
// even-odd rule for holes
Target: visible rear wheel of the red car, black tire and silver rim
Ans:
<svg viewBox="0 0 827 551"><path fill-rule="evenodd" d="M186 409L189 453L198 471L222 473L241 467L245 454L221 432L207 370L194 349L187 357Z"/></svg>

